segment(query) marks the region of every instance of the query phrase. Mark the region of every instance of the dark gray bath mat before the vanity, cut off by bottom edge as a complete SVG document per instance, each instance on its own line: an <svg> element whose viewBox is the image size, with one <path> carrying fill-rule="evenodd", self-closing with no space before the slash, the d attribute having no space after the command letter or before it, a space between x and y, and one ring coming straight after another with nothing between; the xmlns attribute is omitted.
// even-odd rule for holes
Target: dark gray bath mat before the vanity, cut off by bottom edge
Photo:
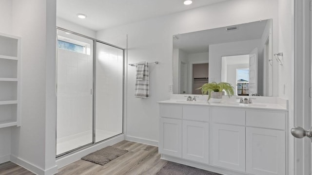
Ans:
<svg viewBox="0 0 312 175"><path fill-rule="evenodd" d="M206 170L174 163L167 162L156 175L220 175Z"/></svg>

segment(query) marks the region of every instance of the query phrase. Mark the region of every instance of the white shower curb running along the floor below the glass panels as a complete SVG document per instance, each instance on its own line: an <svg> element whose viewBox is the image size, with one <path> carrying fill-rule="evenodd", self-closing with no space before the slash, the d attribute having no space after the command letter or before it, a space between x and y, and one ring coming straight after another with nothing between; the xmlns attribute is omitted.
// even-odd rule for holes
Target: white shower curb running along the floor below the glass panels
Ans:
<svg viewBox="0 0 312 175"><path fill-rule="evenodd" d="M106 141L103 141L103 142L100 142L100 143L97 143L96 145L92 145L88 148L83 148L82 150L79 150L77 152L74 152L72 154L69 154L69 155L65 155L65 156L62 156L62 157L58 157L57 160L56 160L56 163L58 165L58 168L62 168L68 164L71 164L77 160L79 160L81 157L84 157L90 153L93 153L99 149L102 149L102 148L105 148L106 146L110 146L110 145L113 145L113 144L116 144L122 140L125 140L125 137L124 135L119 135L119 136L116 136L112 139L109 139L109 140L106 140Z"/></svg>

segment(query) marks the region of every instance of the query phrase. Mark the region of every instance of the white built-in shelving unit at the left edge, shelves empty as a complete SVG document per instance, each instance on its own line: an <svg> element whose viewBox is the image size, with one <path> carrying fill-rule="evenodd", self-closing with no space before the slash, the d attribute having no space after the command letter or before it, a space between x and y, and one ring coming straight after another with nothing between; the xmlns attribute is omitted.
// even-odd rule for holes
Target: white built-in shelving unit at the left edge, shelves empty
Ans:
<svg viewBox="0 0 312 175"><path fill-rule="evenodd" d="M20 126L20 37L0 33L0 128Z"/></svg>

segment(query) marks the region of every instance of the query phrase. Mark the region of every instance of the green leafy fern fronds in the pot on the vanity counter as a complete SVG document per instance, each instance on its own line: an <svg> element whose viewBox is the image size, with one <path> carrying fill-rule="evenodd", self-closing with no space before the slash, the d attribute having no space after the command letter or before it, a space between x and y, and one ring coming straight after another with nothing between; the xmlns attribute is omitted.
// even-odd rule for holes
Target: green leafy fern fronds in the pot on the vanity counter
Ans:
<svg viewBox="0 0 312 175"><path fill-rule="evenodd" d="M201 86L201 93L204 95L209 95L208 100L210 99L211 92L222 92L223 90L227 93L229 98L234 95L234 87L230 83L226 82L220 82L220 83L205 83L203 86Z"/></svg>

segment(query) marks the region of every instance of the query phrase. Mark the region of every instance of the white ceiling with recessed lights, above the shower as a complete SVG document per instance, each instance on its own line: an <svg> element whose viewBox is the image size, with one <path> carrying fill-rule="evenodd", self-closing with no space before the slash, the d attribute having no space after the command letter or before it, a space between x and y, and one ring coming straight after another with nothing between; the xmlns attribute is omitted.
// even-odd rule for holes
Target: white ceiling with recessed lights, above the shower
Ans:
<svg viewBox="0 0 312 175"><path fill-rule="evenodd" d="M57 17L99 31L227 0L57 0ZM77 14L85 14L80 19Z"/></svg>

